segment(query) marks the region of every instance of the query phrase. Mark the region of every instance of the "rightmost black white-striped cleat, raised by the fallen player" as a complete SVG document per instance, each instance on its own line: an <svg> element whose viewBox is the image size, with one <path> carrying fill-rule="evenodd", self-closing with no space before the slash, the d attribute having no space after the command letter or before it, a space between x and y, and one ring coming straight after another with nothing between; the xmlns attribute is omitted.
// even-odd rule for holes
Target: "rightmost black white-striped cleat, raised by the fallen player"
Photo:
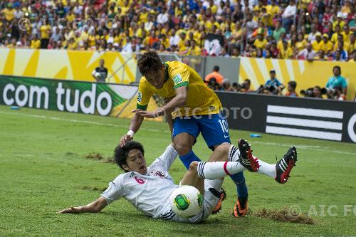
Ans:
<svg viewBox="0 0 356 237"><path fill-rule="evenodd" d="M295 162L297 162L297 149L295 147L290 147L288 152L284 157L276 164L276 181L280 184L285 184L290 177L290 171L295 167Z"/></svg>

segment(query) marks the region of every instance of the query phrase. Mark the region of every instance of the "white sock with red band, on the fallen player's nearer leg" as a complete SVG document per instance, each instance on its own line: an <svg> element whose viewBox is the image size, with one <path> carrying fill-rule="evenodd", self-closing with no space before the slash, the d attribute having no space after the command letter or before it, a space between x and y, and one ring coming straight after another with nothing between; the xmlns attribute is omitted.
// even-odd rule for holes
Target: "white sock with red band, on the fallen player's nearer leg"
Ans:
<svg viewBox="0 0 356 237"><path fill-rule="evenodd" d="M246 168L240 162L199 162L198 176L203 179L220 179Z"/></svg>

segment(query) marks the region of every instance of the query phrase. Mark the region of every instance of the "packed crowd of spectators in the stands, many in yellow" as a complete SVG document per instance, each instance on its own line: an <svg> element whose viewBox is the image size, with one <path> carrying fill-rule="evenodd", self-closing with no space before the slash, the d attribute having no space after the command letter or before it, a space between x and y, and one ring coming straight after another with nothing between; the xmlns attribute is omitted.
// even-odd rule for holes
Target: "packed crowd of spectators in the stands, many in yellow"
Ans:
<svg viewBox="0 0 356 237"><path fill-rule="evenodd" d="M355 62L355 5L355 0L9 0L0 2L0 47Z"/></svg>

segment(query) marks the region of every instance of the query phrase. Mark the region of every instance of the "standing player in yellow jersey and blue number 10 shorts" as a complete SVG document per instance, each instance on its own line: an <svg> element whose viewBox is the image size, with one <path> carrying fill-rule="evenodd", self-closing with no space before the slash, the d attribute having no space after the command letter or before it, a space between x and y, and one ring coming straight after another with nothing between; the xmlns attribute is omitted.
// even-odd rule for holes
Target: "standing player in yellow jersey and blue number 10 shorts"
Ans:
<svg viewBox="0 0 356 237"><path fill-rule="evenodd" d="M133 139L144 117L163 115L170 117L168 122L174 149L187 169L192 162L200 161L192 151L200 133L212 150L223 143L231 143L226 119L221 115L221 102L195 70L177 61L162 63L154 51L144 53L137 66L143 75L138 89L137 110L132 111L135 115L129 132L120 140L121 146ZM167 99L167 102L155 111L147 112L148 102L154 94ZM240 172L230 177L238 192L234 215L244 216L248 210L244 174ZM221 195L221 201L223 198L224 194ZM221 209L221 201L216 206L215 213Z"/></svg>

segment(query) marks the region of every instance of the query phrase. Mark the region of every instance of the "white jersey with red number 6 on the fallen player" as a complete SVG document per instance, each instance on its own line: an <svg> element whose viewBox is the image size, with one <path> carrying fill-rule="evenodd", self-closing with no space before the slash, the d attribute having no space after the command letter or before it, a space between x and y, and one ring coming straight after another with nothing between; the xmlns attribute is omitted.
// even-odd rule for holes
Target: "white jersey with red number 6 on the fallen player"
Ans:
<svg viewBox="0 0 356 237"><path fill-rule="evenodd" d="M108 189L101 196L108 204L124 197L145 215L159 218L170 210L169 196L178 186L168 174L168 169L177 155L177 151L169 144L164 153L147 167L147 174L120 174L109 183Z"/></svg>

